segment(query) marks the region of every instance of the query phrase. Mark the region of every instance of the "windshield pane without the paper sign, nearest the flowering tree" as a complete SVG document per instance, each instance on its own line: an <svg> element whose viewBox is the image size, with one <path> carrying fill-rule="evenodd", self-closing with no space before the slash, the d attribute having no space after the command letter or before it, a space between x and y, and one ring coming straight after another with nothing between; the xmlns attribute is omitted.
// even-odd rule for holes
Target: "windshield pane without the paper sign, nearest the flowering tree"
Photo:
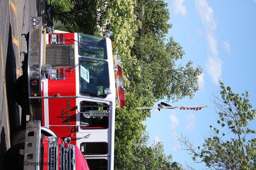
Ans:
<svg viewBox="0 0 256 170"><path fill-rule="evenodd" d="M79 55L107 59L106 40L104 37L78 34Z"/></svg>

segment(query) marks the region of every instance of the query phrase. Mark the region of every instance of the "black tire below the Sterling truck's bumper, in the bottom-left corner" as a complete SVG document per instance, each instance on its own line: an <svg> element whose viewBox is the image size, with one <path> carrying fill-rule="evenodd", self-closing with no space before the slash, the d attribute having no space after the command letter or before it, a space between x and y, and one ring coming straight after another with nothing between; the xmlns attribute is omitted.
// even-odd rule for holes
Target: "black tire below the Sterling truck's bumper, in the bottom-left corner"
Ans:
<svg viewBox="0 0 256 170"><path fill-rule="evenodd" d="M20 149L24 150L25 143L12 146L5 154L4 167L5 169L22 170L24 155L20 155Z"/></svg>

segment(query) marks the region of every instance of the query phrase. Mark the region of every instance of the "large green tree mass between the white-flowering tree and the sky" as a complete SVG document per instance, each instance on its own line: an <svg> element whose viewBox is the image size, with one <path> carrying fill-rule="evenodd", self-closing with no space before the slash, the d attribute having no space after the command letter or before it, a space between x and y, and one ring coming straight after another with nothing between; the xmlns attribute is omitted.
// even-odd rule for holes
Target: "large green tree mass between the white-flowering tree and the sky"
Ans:
<svg viewBox="0 0 256 170"><path fill-rule="evenodd" d="M172 37L165 39L172 27L167 23L170 18L166 7L161 0L138 0L135 8L141 27L133 33L136 38L131 55L137 62L130 67L137 69L129 72L126 89L142 97L142 106L153 106L164 97L173 102L185 96L192 98L199 90L197 79L203 72L201 67L194 68L191 61L185 66L177 65L185 52ZM150 112L144 111L144 115L150 116Z"/></svg>

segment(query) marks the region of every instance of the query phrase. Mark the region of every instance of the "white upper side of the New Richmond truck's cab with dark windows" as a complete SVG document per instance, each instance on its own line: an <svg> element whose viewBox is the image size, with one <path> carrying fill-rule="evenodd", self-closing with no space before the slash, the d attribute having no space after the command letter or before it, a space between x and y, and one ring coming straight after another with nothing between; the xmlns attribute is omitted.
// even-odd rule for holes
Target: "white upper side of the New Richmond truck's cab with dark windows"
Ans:
<svg viewBox="0 0 256 170"><path fill-rule="evenodd" d="M76 132L76 145L84 154L91 170L108 170L111 155L114 155L115 128L112 120L112 102L100 100L77 99L76 123L80 125Z"/></svg>

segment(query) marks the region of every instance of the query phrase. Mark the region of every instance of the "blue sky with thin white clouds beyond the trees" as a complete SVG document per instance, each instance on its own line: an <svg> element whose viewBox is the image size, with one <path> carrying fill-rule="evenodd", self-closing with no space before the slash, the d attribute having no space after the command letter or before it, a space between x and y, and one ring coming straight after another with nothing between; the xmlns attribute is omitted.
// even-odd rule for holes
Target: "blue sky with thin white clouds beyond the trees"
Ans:
<svg viewBox="0 0 256 170"><path fill-rule="evenodd" d="M256 108L255 58L256 58L256 0L165 0L170 11L172 28L166 38L173 37L186 55L183 65L193 61L204 73L199 76L200 90L193 99L168 102L172 106L213 105L201 110L152 109L151 117L144 121L149 132L149 142L160 141L172 161L183 166L185 162L196 169L204 163L193 163L191 155L177 140L186 135L197 147L204 142L209 126L219 128L212 94L220 94L219 80L230 86L234 93L249 92L250 103ZM146 12L146 11L145 11ZM160 102L166 100L160 100ZM256 129L256 121L250 122ZM221 129L221 128L220 128ZM255 137L255 136L254 136Z"/></svg>

